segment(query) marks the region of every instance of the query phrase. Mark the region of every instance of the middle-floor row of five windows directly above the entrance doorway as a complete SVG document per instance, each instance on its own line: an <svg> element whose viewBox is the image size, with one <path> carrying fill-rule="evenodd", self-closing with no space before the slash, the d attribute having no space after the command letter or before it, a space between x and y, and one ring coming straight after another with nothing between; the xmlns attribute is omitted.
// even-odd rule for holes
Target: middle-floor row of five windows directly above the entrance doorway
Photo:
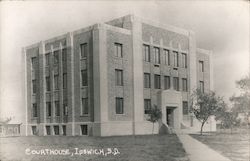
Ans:
<svg viewBox="0 0 250 161"><path fill-rule="evenodd" d="M171 81L170 76L164 76L164 89L170 89ZM144 73L144 88L151 88L150 73ZM161 89L161 76L154 75L154 88ZM179 91L179 78L173 77L173 89ZM182 90L188 91L187 78L182 78Z"/></svg>

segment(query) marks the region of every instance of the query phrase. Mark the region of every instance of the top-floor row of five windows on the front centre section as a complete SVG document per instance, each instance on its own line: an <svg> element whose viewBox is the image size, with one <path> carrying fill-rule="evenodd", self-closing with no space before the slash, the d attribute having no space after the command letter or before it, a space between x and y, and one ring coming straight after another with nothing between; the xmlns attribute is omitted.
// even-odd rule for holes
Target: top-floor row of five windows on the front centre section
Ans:
<svg viewBox="0 0 250 161"><path fill-rule="evenodd" d="M153 63L155 64L165 64L165 65L171 65L171 58L170 58L170 51L167 49L163 49L163 53L160 52L159 47L153 47ZM150 54L150 46L143 44L143 56L145 62L151 62L151 54ZM163 54L163 60L161 59L161 54ZM173 51L173 65L174 67L179 67L179 57L181 57L181 67L187 68L187 54L181 53L179 54L177 51Z"/></svg>

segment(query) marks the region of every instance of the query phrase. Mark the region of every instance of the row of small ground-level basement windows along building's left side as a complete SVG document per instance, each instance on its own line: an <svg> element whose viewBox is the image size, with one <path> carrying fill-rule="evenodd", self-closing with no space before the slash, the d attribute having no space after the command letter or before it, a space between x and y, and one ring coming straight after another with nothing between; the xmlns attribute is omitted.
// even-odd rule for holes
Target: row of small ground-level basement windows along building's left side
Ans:
<svg viewBox="0 0 250 161"><path fill-rule="evenodd" d="M38 135L37 126L31 126L32 135ZM46 135L66 135L66 125L62 125L62 129L60 132L59 125L54 126L45 126ZM80 125L80 134L81 135L88 135L88 125Z"/></svg>

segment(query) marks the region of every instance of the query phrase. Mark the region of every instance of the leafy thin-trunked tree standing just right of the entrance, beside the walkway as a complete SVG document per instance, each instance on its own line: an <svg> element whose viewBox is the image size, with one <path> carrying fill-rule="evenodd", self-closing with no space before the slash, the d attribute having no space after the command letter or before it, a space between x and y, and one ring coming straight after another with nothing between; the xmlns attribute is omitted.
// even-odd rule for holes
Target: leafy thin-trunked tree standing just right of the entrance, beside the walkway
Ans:
<svg viewBox="0 0 250 161"><path fill-rule="evenodd" d="M215 92L209 91L203 93L200 90L195 90L191 94L191 109L195 117L201 122L200 134L202 135L203 126L210 116L216 116L217 111L226 107L225 102Z"/></svg>

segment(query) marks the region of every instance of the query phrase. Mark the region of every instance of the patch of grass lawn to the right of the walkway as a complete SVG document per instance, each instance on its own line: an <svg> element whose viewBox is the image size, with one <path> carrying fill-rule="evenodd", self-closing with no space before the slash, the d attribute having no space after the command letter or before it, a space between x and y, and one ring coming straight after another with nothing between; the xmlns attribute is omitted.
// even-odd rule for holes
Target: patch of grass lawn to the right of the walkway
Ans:
<svg viewBox="0 0 250 161"><path fill-rule="evenodd" d="M249 132L247 129L218 130L215 133L192 134L191 136L232 161L249 161Z"/></svg>

